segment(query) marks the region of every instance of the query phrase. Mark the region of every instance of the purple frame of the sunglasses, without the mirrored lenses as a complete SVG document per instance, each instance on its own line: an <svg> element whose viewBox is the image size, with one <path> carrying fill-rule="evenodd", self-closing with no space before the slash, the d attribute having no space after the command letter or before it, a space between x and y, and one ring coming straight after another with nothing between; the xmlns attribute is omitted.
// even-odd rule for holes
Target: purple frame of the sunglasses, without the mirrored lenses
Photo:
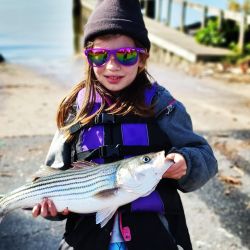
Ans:
<svg viewBox="0 0 250 250"><path fill-rule="evenodd" d="M135 61L132 63L132 64L124 64L124 63L122 63L121 61L119 61L119 59L118 59L118 57L117 57L117 55L116 55L116 53L117 52L119 52L120 50L133 50L133 51L136 51L136 58L135 58ZM104 52L106 52L107 53L107 58L106 58L106 60L104 61L104 63L103 64L101 64L101 65L95 65L90 59L89 59L89 52L93 52L93 51L96 51L96 52L98 52L98 51L104 51ZM110 57L111 57L111 55L114 55L114 58L115 58L115 61L116 62L118 62L119 64L121 64L121 65L123 65L123 66L132 66L132 65L134 65L134 64L136 64L137 63L137 61L138 61L138 58L139 58L139 54L146 54L147 53L147 51L146 51L146 49L144 49L144 48L133 48L133 47L122 47L122 48L118 48L118 49L106 49L106 48L88 48L88 49L85 49L84 50L84 54L85 54L85 56L87 57L87 59L88 59L88 63L89 63L89 65L91 65L92 67L102 67L102 66L104 66L109 60L110 60Z"/></svg>

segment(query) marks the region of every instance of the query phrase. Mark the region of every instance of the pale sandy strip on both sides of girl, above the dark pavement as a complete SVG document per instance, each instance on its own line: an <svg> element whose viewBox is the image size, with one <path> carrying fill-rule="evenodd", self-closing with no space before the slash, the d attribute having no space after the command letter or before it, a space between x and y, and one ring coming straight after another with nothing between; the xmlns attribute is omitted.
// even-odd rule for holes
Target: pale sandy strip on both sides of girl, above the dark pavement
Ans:
<svg viewBox="0 0 250 250"><path fill-rule="evenodd" d="M68 71L65 72L64 68L67 66ZM79 55L58 65L56 70L52 68L51 72L54 74L48 73L46 69L43 71L43 67L33 68L9 62L0 64L0 138L54 134L55 117L60 100L70 91L74 81L81 80L83 68L83 59ZM250 84L228 83L210 76L195 76L180 67L169 65L166 68L164 65L155 64L153 60L149 62L148 69L160 84L165 85L174 96L184 102L191 113L194 125L197 125L194 126L195 129L205 128L206 131L218 129L220 126L214 126L212 120L218 121L221 115L225 116L225 112L229 113L226 115L228 123L225 127L225 123L222 122L221 128L243 129L250 126L244 111L250 105ZM63 73L60 74L59 71ZM184 77L185 82L182 83ZM190 90L190 85L193 90ZM206 91L218 93L218 97L214 96L210 99L212 92L211 94L208 92L207 98L201 98L200 94L203 92L201 88L204 88L204 93ZM225 95L226 91L228 97L220 96L218 91L221 95ZM237 100L232 99L231 103L228 103L227 98L233 98L235 94L238 95ZM214 113L215 107L210 103L217 106L216 113ZM225 105L226 103L228 106ZM239 104L242 107L238 107ZM203 109L200 105L204 106ZM219 112L220 109L222 109L221 112ZM207 123L208 114L210 123Z"/></svg>

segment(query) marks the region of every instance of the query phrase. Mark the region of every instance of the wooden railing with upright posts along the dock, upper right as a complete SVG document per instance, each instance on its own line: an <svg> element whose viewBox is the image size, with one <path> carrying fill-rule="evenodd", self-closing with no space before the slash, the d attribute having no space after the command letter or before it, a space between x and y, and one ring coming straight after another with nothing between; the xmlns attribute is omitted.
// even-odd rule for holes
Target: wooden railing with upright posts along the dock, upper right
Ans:
<svg viewBox="0 0 250 250"><path fill-rule="evenodd" d="M206 6L198 3L192 3L190 1L185 0L141 0L144 7L144 13L149 12L149 3L152 1L155 3L154 5L154 18L159 21L163 22L164 24L170 26L171 25L171 17L172 17L172 11L173 11L173 3L177 3L181 7L181 15L180 15L180 30L185 32L185 26L186 26L186 16L188 9L192 9L195 11L198 11L201 13L201 27L204 27L206 25L207 17L210 16L217 16L219 20L219 25L221 25L223 19L230 19L234 20L239 25L239 38L238 38L238 46L239 49L242 49L244 46L244 36L245 36L245 30L250 25L250 15L246 15L245 13L240 12L234 12L230 10L222 10L219 8ZM164 11L164 17L162 16L162 8L163 8L163 2L165 2L167 9ZM152 7L152 6L150 6ZM151 11L152 12L152 11Z"/></svg>

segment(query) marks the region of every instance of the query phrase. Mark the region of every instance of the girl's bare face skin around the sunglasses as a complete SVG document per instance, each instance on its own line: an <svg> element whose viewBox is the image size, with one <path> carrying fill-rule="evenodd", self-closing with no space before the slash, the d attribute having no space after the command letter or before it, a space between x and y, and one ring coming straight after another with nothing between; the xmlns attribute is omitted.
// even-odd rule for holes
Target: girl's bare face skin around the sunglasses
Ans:
<svg viewBox="0 0 250 250"><path fill-rule="evenodd" d="M134 41L125 35L114 35L105 38L96 38L93 48L118 49L132 47L135 48ZM134 65L124 66L117 62L114 55L111 55L101 67L93 67L97 80L109 91L119 92L128 87L135 79L138 69L144 67L144 63L139 59Z"/></svg>

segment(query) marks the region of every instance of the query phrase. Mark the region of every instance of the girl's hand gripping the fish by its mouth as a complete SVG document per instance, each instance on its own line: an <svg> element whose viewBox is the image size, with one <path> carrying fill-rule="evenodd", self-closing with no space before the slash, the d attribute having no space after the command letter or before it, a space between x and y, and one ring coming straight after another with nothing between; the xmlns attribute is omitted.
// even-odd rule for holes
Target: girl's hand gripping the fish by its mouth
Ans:
<svg viewBox="0 0 250 250"><path fill-rule="evenodd" d="M167 160L172 160L174 164L163 174L163 178L179 180L187 172L185 158L178 153L171 153L166 156Z"/></svg>

